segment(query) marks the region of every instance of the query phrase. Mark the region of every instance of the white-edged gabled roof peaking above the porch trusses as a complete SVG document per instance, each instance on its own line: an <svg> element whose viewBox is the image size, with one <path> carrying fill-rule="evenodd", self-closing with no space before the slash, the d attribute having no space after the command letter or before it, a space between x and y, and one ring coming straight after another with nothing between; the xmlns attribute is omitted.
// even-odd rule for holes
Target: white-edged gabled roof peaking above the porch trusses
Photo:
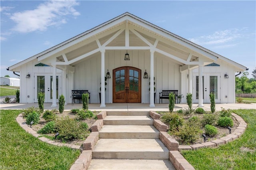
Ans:
<svg viewBox="0 0 256 170"><path fill-rule="evenodd" d="M180 45L183 45L185 47L188 47L190 49L192 49L193 51L202 53L205 56L208 56L209 58L214 59L215 57L220 58L228 63L231 63L233 65L235 65L236 67L245 70L246 67L244 67L243 65L240 65L230 59L227 59L226 57L223 57L222 55L219 55L217 53L214 53L213 51L210 51L196 43L190 42L180 36L177 36L176 34L173 34L171 32L168 32L167 30L164 30L154 24L151 24L150 22L147 22L146 20L143 20L141 18L138 18L137 16L134 16L128 12L117 16L116 18L113 18L112 20L109 20L107 22L104 22L103 24L100 24L99 26L96 26L86 32L83 32L82 34L79 34L73 38L70 38L69 40L66 40L65 42L62 42L58 45L55 45L54 47L51 47L45 51L42 51L41 53L38 53L28 59L25 59L15 65L10 66L8 69L12 70L16 67L19 67L20 65L23 65L24 63L27 63L29 61L32 61L36 58L47 58L51 55L53 55L54 53L57 53L63 49L66 49L67 47L70 47L72 45L75 45L76 43L79 43L83 40L86 40L86 38L89 38L92 35L96 35L99 34L100 32L111 28L112 26L115 26L118 23L124 22L126 20L129 20L131 22L134 22L138 25L142 25L144 28L148 29L148 30L154 30L154 32L156 32L157 34L163 36L164 38L167 38L169 40L173 40L176 43L179 43Z"/></svg>

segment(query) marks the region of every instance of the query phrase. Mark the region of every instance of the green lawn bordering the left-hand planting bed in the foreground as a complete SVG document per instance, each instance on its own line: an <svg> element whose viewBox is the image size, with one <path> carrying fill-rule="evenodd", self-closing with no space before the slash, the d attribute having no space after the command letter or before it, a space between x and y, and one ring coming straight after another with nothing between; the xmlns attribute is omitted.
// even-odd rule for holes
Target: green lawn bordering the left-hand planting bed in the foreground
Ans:
<svg viewBox="0 0 256 170"><path fill-rule="evenodd" d="M16 122L20 110L0 110L0 169L68 170L79 150L42 142Z"/></svg>

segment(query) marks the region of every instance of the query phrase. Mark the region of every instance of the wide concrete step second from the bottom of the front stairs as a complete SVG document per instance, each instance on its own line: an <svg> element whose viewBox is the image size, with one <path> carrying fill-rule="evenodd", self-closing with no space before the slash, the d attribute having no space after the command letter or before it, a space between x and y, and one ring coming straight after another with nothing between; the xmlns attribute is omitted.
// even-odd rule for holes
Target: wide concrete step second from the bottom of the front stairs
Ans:
<svg viewBox="0 0 256 170"><path fill-rule="evenodd" d="M99 139L93 159L169 159L160 139Z"/></svg>

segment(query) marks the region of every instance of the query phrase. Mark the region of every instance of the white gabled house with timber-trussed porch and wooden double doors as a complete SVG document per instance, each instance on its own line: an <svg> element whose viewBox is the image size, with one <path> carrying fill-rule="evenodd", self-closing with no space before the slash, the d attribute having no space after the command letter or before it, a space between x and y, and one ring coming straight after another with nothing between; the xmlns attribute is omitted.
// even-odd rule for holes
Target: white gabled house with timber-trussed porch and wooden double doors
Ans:
<svg viewBox="0 0 256 170"><path fill-rule="evenodd" d="M88 90L91 103L100 107L154 107L155 87L156 103L162 90L178 90L181 103L192 93L193 102L203 107L210 92L216 103L235 103L235 73L246 67L126 12L8 70L20 73L21 103L36 103L41 91L55 107L61 94L72 103L72 90Z"/></svg>

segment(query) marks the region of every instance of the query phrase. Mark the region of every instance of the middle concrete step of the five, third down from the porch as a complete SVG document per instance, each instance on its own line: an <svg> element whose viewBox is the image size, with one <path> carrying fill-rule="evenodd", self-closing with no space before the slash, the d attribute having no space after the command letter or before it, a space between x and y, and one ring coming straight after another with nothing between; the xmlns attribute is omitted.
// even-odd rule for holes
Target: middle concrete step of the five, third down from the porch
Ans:
<svg viewBox="0 0 256 170"><path fill-rule="evenodd" d="M104 125L100 138L159 138L159 131L148 125Z"/></svg>

